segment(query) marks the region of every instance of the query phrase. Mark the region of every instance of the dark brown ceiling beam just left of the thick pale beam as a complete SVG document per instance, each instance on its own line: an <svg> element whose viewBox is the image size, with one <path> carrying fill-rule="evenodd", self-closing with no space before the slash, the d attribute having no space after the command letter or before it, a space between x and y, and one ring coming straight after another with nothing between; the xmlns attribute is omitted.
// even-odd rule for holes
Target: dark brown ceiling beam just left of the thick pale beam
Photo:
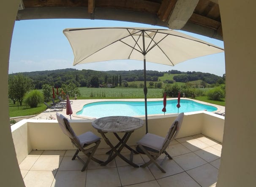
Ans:
<svg viewBox="0 0 256 187"><path fill-rule="evenodd" d="M158 18L161 21L167 21L172 13L174 5L176 4L177 0L163 0L161 6L158 10Z"/></svg>

